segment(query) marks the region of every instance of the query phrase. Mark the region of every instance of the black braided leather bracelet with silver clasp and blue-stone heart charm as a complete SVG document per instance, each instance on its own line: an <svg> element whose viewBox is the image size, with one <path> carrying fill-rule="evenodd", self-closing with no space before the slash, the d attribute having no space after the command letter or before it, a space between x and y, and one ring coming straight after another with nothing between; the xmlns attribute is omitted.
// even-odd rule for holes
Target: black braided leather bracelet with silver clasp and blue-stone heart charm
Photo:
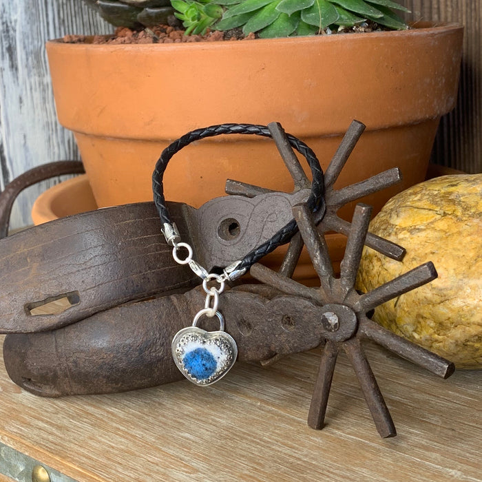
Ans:
<svg viewBox="0 0 482 482"><path fill-rule="evenodd" d="M275 248L287 242L297 231L295 220L291 220L282 229L277 231L273 238L262 243L258 248L250 251L242 260L235 261L226 266L221 275L207 273L206 269L193 260L193 250L185 242L181 242L176 224L171 222L169 211L166 207L163 189L163 175L169 160L176 152L180 151L195 140L205 137L218 136L220 134L255 134L258 136L271 137L267 126L253 124L222 124L196 129L185 134L164 149L160 155L154 174L152 174L152 190L154 191L154 204L158 210L160 220L163 223L163 234L167 244L173 247L172 255L179 264L189 264L191 270L202 278L202 288L206 293L204 308L200 309L193 319L191 326L182 328L174 335L171 344L171 352L176 366L182 375L196 385L207 386L218 381L233 366L238 356L236 342L224 331L224 318L218 311L219 295L224 291L227 280L243 275L252 264L260 260L264 255L271 253ZM324 178L322 168L315 153L301 140L286 134L291 147L295 148L308 161L313 180L311 193L308 196L308 207L312 211L325 208L324 202ZM180 259L178 249L187 249L187 257ZM216 282L217 286L208 286L208 282ZM220 324L219 331L207 332L198 328L197 324L202 316L217 317Z"/></svg>

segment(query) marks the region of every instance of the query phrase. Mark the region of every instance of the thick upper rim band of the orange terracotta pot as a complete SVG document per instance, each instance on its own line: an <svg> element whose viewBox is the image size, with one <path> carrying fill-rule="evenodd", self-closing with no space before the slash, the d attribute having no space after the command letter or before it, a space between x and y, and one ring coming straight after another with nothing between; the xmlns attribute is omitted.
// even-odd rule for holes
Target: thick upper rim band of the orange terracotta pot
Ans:
<svg viewBox="0 0 482 482"><path fill-rule="evenodd" d="M275 118L300 138L340 135L353 118L372 131L437 120L457 100L463 28L417 25L404 31L162 48L50 41L57 116L78 135L163 142L200 125L234 120L267 124ZM328 72L327 62L336 68ZM429 81L420 81L421 75ZM193 85L202 85L202 95ZM239 92L250 102L235 103ZM113 93L114 101L106 102ZM383 111L377 108L382 102L388 106ZM162 115L156 106L162 106Z"/></svg>

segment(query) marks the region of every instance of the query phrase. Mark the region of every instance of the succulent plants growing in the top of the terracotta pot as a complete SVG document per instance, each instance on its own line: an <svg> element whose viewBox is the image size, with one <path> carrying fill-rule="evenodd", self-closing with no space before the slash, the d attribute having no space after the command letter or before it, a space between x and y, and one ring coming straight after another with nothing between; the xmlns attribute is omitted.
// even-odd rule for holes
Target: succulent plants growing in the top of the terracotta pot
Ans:
<svg viewBox="0 0 482 482"><path fill-rule="evenodd" d="M384 28L404 30L394 12L408 12L392 0L85 0L113 25L136 28L167 23L173 14L185 34L207 28L241 28L260 37L314 35L373 21Z"/></svg>

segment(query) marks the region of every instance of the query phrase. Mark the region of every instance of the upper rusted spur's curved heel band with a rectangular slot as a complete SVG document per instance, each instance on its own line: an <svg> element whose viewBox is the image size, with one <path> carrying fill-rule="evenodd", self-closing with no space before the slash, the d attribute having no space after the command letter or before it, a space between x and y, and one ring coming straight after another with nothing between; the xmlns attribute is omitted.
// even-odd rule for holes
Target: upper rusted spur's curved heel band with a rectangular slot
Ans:
<svg viewBox="0 0 482 482"><path fill-rule="evenodd" d="M0 193L5 237L13 202L35 182L83 172L79 161L35 167ZM186 232L182 206L170 203ZM130 300L187 291L197 278L171 256L151 202L99 209L32 227L0 240L0 333L34 333L77 322ZM63 300L49 315L39 309Z"/></svg>

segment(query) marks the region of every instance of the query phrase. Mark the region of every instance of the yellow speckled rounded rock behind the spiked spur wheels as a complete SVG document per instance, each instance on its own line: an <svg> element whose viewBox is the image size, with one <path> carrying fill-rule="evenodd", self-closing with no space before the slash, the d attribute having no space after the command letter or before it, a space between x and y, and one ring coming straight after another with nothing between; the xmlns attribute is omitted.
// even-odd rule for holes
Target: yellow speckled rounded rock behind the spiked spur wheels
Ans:
<svg viewBox="0 0 482 482"><path fill-rule="evenodd" d="M437 280L377 307L374 319L459 368L482 368L482 174L442 176L399 193L370 231L407 253L397 262L365 248L361 291L428 261L439 273Z"/></svg>

